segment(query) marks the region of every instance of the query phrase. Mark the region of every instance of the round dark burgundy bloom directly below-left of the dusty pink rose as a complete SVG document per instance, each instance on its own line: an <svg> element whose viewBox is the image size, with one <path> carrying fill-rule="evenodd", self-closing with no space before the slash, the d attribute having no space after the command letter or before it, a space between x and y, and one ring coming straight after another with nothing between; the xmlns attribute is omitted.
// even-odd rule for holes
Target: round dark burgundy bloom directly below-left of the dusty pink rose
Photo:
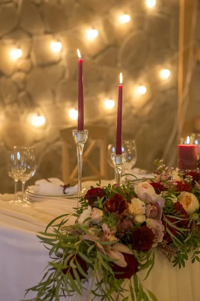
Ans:
<svg viewBox="0 0 200 301"><path fill-rule="evenodd" d="M147 226L137 228L132 232L132 247L138 251L149 251L152 247L154 234Z"/></svg>

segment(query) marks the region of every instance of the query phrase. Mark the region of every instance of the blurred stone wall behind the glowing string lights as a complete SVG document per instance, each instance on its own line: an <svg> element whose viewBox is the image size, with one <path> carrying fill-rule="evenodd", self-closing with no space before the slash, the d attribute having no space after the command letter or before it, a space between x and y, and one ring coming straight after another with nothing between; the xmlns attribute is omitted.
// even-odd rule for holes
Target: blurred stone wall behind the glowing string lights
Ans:
<svg viewBox="0 0 200 301"><path fill-rule="evenodd" d="M129 14L119 24L119 14ZM98 30L92 42L85 30ZM59 40L62 50L52 52ZM13 61L10 50L22 56ZM77 108L77 53L84 60L85 123L109 128L114 140L116 106L103 108L105 98L117 100L123 74L123 137L135 137L137 166L152 169L171 132L177 103L178 0L1 0L0 1L0 192L11 190L6 154L14 144L35 146L37 171L30 182L61 177L59 130L75 125L68 109ZM161 80L168 68L171 76ZM145 85L144 95L135 94ZM34 127L31 114L46 122ZM75 156L75 155L74 155Z"/></svg>

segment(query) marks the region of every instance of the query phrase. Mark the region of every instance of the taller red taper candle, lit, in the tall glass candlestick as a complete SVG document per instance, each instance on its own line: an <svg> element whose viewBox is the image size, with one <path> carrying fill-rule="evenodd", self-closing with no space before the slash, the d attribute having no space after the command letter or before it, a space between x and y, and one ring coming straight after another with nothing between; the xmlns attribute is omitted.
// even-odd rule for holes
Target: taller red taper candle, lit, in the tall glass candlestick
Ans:
<svg viewBox="0 0 200 301"><path fill-rule="evenodd" d="M78 53L78 118L77 130L84 129L84 106L83 106L83 77L82 77L82 58L79 50Z"/></svg>

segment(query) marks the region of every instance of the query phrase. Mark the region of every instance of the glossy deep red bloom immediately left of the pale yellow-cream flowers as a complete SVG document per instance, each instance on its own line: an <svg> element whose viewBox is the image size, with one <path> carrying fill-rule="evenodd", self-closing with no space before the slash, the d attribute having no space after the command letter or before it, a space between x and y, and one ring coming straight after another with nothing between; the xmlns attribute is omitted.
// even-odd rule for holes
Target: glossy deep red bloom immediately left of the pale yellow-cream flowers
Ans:
<svg viewBox="0 0 200 301"><path fill-rule="evenodd" d="M115 193L110 200L105 203L105 212L118 213L122 215L128 208L128 203L124 199L124 196Z"/></svg>

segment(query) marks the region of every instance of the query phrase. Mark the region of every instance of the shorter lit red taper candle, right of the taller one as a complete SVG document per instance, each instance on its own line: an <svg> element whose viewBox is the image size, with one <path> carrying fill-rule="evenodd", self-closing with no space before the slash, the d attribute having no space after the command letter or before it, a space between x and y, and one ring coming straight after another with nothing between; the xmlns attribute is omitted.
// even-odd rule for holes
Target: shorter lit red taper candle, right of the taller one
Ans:
<svg viewBox="0 0 200 301"><path fill-rule="evenodd" d="M122 74L120 73L120 84L118 86L118 106L117 106L117 119L116 119L116 155L121 155L121 122L122 122Z"/></svg>

